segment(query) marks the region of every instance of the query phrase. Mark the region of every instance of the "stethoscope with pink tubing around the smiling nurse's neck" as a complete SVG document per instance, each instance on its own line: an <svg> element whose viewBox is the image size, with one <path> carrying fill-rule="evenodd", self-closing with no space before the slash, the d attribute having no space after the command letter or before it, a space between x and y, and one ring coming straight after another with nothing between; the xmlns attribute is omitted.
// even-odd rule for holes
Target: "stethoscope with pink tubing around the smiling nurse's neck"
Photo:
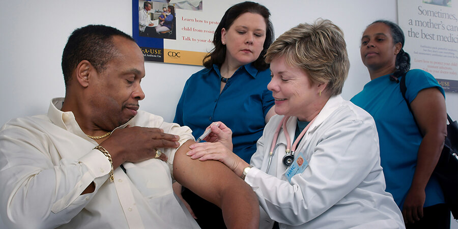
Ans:
<svg viewBox="0 0 458 229"><path fill-rule="evenodd" d="M288 129L287 129L287 122L288 122L289 118L290 118L290 116L283 117L281 122L278 124L277 129L275 130L275 134L274 134L274 137L272 139L272 146L270 147L269 163L267 164L266 173L269 171L269 167L270 167L270 164L272 163L272 157L273 157L275 151L281 145L284 145L285 148L286 148L286 150L285 150L286 155L284 155L284 157L282 159L283 164L288 167L288 166L291 165L291 163L293 163L293 161L294 161L294 153L296 151L297 145L299 144L299 141L302 139L302 137L304 136L305 132L307 132L308 128L310 127L310 125L315 120L315 118L313 118L312 121L310 121L307 124L307 126L302 130L301 134L299 134L299 136L296 138L296 140L294 141L293 145L291 146L290 134L288 133ZM284 143L279 143L277 145L278 134L280 133L280 129L282 127L283 127L284 136L287 139L287 144L285 145ZM290 146L291 146L291 148L290 148Z"/></svg>

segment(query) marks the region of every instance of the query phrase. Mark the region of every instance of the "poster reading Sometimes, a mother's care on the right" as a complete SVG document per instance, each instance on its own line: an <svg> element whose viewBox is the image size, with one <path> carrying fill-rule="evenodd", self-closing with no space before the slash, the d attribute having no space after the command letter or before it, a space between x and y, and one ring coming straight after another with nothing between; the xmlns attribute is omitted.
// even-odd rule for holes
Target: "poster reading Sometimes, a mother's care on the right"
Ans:
<svg viewBox="0 0 458 229"><path fill-rule="evenodd" d="M398 0L397 7L411 69L431 73L446 92L458 93L458 0Z"/></svg>

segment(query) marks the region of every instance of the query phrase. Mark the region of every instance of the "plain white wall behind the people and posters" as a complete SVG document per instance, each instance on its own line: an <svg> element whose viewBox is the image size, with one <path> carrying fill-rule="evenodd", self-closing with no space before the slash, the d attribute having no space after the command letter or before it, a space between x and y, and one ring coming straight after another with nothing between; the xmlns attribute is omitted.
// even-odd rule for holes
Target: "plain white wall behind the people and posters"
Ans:
<svg viewBox="0 0 458 229"><path fill-rule="evenodd" d="M204 0L220 1L220 0ZM367 24L376 19L397 21L396 0L260 0L270 9L275 35L318 17L344 30L350 74L342 96L350 99L369 81L361 63L359 42ZM63 97L62 50L70 33L87 24L106 24L132 34L132 1L2 1L0 7L0 126L9 119L46 113L53 97ZM184 83L199 66L145 63L140 108L171 122ZM156 74L155 74L156 73ZM458 94L447 93L447 109L458 118ZM452 228L458 228L453 222Z"/></svg>

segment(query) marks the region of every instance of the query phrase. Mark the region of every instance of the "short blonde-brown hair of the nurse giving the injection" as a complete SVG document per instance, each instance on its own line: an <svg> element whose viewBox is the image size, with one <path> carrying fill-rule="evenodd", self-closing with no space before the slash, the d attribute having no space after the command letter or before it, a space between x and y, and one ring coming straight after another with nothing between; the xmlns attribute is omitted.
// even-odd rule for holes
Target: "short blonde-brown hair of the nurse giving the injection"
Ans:
<svg viewBox="0 0 458 229"><path fill-rule="evenodd" d="M350 61L344 32L332 21L319 18L280 35L267 50L266 62L279 56L288 65L305 70L312 84L327 83L325 91L331 96L342 93Z"/></svg>

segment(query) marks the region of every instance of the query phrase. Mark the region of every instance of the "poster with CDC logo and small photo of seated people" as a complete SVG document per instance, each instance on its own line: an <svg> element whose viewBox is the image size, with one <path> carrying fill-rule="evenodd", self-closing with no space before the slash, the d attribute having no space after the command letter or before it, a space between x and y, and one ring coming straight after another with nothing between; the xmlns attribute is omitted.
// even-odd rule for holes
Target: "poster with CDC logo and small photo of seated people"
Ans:
<svg viewBox="0 0 458 229"><path fill-rule="evenodd" d="M213 34L236 0L132 0L132 36L145 61L202 65Z"/></svg>

